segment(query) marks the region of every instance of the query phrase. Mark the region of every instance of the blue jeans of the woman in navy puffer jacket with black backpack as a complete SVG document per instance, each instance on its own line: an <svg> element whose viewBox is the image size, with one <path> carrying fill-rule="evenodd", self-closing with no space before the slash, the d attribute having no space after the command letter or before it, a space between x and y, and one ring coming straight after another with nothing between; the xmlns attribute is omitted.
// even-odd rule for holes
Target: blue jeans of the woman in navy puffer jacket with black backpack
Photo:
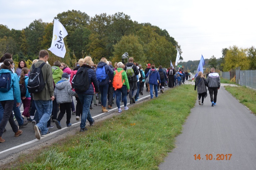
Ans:
<svg viewBox="0 0 256 170"><path fill-rule="evenodd" d="M81 124L80 124L81 129L85 128L86 119L89 122L93 122L93 118L91 117L91 114L90 114L90 104L91 104L92 97L93 95L78 94L78 98L83 105L83 112L82 112Z"/></svg>

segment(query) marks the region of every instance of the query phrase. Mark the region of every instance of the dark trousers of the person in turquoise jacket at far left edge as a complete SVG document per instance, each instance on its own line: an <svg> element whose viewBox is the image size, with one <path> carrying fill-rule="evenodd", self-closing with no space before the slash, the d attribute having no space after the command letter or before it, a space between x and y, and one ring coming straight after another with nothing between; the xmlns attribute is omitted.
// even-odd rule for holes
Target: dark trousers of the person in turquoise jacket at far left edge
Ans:
<svg viewBox="0 0 256 170"><path fill-rule="evenodd" d="M3 106L4 112L3 112L3 118L0 123L0 137L2 137L3 130L8 121L12 127L12 131L14 133L18 132L18 126L16 125L16 123L13 119L13 114L12 114L12 109L13 109L13 105L14 105L13 100L1 101L1 104ZM16 105L16 103L15 103L15 105Z"/></svg>

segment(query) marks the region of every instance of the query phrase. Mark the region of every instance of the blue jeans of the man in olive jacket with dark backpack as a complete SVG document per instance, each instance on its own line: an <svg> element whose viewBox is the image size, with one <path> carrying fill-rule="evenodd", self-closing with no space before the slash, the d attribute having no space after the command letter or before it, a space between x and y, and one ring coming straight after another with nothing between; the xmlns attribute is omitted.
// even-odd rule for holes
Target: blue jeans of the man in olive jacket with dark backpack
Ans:
<svg viewBox="0 0 256 170"><path fill-rule="evenodd" d="M41 131L42 135L47 134L47 122L51 118L53 110L52 100L34 100L35 107L38 111L39 123L37 124L38 129Z"/></svg>

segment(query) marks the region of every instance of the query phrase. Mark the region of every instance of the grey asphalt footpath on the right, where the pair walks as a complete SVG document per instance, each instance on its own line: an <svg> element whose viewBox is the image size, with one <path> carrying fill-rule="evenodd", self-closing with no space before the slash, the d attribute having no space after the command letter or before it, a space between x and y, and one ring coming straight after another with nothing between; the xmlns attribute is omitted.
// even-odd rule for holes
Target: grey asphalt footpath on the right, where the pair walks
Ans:
<svg viewBox="0 0 256 170"><path fill-rule="evenodd" d="M211 106L209 95L204 105L196 102L176 138L176 147L159 169L251 170L256 169L255 151L256 116L221 87L216 106ZM195 154L201 159L195 160ZM217 160L218 154L224 160Z"/></svg>

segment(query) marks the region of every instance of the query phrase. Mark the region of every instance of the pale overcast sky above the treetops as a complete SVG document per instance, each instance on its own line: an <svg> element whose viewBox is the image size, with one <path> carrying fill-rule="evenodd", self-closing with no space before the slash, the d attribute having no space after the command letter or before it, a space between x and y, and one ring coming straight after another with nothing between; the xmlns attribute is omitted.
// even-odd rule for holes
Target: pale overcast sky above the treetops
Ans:
<svg viewBox="0 0 256 170"><path fill-rule="evenodd" d="M0 24L22 30L35 19L52 22L68 10L90 17L123 12L133 21L166 29L181 46L183 61L194 61L201 55L219 58L223 48L234 45L255 46L255 5L254 0L10 0L0 1Z"/></svg>

